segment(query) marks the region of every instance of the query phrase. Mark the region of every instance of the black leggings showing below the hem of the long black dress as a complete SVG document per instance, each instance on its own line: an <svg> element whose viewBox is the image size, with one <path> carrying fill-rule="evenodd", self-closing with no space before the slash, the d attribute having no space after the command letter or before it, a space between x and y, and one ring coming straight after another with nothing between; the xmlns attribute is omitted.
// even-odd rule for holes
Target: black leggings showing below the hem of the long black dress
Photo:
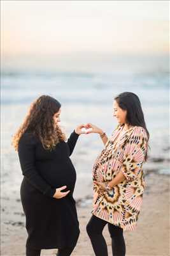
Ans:
<svg viewBox="0 0 170 256"><path fill-rule="evenodd" d="M69 256L73 252L74 247L59 249L56 256ZM26 256L40 256L41 250L26 247Z"/></svg>

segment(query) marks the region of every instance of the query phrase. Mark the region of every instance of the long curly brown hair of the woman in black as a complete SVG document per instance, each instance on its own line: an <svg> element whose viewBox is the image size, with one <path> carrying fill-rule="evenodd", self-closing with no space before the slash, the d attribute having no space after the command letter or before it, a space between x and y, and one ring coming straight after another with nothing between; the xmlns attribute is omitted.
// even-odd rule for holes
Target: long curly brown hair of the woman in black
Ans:
<svg viewBox="0 0 170 256"><path fill-rule="evenodd" d="M38 136L45 149L52 149L60 141L66 140L60 127L53 123L53 115L59 111L60 106L60 102L48 95L34 100L23 124L13 136L12 145L15 150L18 150L22 134L27 131Z"/></svg>

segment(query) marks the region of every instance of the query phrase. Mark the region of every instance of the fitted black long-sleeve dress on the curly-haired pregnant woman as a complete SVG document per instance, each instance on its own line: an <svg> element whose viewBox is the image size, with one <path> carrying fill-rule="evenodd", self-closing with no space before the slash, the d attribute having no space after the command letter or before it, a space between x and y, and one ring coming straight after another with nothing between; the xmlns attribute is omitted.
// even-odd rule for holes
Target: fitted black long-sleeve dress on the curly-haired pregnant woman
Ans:
<svg viewBox="0 0 170 256"><path fill-rule="evenodd" d="M18 156L24 179L20 197L25 213L28 237L26 246L52 249L74 246L80 234L73 191L76 171L69 156L78 140L72 132L53 150L45 150L31 132L25 132L18 144ZM66 185L64 198L53 198L55 188Z"/></svg>

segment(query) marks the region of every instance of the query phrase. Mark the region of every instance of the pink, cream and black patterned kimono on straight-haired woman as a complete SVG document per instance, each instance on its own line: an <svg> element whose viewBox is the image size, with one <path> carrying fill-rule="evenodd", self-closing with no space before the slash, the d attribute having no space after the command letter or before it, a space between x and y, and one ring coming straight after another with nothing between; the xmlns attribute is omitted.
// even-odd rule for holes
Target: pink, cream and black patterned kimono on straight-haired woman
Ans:
<svg viewBox="0 0 170 256"><path fill-rule="evenodd" d="M147 150L147 134L143 127L133 126L117 140L123 128L124 124L117 126L97 157L93 180L109 182L120 170L126 179L108 191L94 184L92 214L124 230L136 230L145 189L142 166Z"/></svg>

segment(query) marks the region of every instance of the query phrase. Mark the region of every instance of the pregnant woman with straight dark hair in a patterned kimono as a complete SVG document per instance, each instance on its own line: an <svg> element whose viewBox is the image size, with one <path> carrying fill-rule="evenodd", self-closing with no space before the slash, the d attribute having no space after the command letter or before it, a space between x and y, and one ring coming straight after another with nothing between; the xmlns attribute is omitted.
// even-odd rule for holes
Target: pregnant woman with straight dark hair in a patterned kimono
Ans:
<svg viewBox="0 0 170 256"><path fill-rule="evenodd" d="M108 225L113 256L125 256L124 230L136 230L145 189L143 163L147 160L149 132L138 96L115 97L113 115L118 125L111 138L93 124L87 128L105 145L93 168L94 208L87 233L96 256L108 256L103 228Z"/></svg>

